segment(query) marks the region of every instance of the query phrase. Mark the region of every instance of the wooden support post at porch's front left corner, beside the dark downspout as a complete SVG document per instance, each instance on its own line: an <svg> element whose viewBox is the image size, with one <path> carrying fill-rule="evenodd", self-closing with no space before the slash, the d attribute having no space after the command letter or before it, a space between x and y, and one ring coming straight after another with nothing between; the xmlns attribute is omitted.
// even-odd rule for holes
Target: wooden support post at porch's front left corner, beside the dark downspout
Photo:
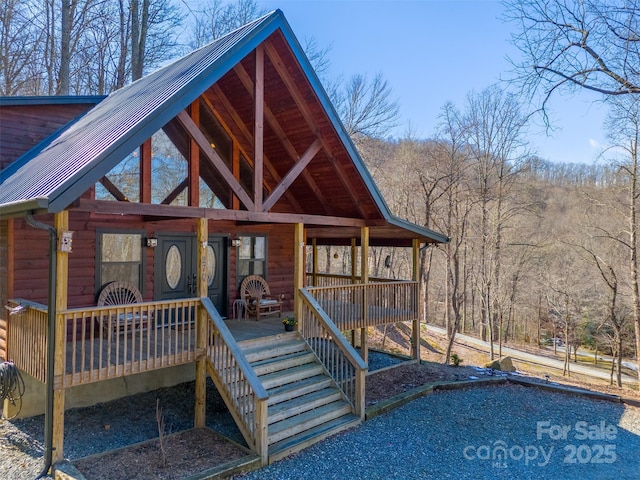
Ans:
<svg viewBox="0 0 640 480"><path fill-rule="evenodd" d="M56 213L53 219L54 228L58 238L62 238L62 232L69 230L69 212L64 210ZM67 309L67 293L69 287L69 252L61 252L58 246L56 250L56 334L53 340L55 345L55 357L53 363L53 375L55 378L64 376L66 365L66 325L64 316L60 313ZM72 328L76 326L73 325ZM53 392L53 448L52 462L64 460L64 387Z"/></svg>

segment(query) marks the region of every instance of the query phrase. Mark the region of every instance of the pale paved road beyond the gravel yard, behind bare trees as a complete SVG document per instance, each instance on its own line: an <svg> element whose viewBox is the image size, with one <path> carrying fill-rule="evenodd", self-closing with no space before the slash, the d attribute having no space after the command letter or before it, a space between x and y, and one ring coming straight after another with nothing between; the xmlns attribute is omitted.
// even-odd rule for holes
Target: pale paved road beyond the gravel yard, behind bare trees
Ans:
<svg viewBox="0 0 640 480"><path fill-rule="evenodd" d="M438 335L446 335L446 331L444 328L434 327L433 325L426 325L427 329L436 333ZM456 343L460 343L462 345L469 345L472 347L479 348L485 352L489 352L489 343L483 342L480 339L470 337L469 335L456 334ZM495 346L494 346L495 348ZM564 369L564 361L557 360L555 358L545 357L543 355L534 355L528 352L522 352L520 350L513 349L511 347L502 347L502 355L510 356L514 360L520 360L521 362L533 364L533 365L541 365L545 367L550 367L554 369L558 369L562 371ZM591 367L589 365L584 365L580 363L571 362L570 370L572 373L579 373L581 375L588 375L595 378L600 378L603 380L609 380L610 375L606 370L601 370L599 368ZM624 374L622 375L622 381L624 383L638 383L637 377L632 377L630 375Z"/></svg>

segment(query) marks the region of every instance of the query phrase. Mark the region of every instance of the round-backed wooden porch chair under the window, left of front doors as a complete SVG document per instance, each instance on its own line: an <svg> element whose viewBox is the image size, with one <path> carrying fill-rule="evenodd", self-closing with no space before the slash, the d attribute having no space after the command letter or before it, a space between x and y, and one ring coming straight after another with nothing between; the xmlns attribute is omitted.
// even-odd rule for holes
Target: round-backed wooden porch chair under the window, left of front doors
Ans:
<svg viewBox="0 0 640 480"><path fill-rule="evenodd" d="M142 303L142 294L140 290L128 282L110 282L104 286L98 297L99 307L110 307L117 305L131 305L133 303ZM111 323L111 328L109 328ZM118 335L128 330L147 328L147 316L138 313L121 313L120 315L112 315L111 322L108 318L103 318L103 329L107 333ZM109 332L109 330L111 330Z"/></svg>

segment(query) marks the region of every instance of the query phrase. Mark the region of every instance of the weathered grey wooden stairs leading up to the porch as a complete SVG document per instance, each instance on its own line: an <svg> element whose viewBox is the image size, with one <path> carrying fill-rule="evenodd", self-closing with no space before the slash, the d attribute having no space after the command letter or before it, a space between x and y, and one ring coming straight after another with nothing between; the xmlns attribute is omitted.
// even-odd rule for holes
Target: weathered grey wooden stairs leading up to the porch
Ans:
<svg viewBox="0 0 640 480"><path fill-rule="evenodd" d="M269 463L360 423L296 332L238 342L269 394Z"/></svg>

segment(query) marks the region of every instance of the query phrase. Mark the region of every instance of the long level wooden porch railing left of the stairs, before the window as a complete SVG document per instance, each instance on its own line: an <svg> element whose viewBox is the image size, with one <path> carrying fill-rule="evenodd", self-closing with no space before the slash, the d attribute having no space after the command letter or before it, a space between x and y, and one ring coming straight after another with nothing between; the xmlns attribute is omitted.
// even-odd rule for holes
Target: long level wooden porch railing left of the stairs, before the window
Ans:
<svg viewBox="0 0 640 480"><path fill-rule="evenodd" d="M67 348L55 388L193 362L199 305L184 299L61 312Z"/></svg>

